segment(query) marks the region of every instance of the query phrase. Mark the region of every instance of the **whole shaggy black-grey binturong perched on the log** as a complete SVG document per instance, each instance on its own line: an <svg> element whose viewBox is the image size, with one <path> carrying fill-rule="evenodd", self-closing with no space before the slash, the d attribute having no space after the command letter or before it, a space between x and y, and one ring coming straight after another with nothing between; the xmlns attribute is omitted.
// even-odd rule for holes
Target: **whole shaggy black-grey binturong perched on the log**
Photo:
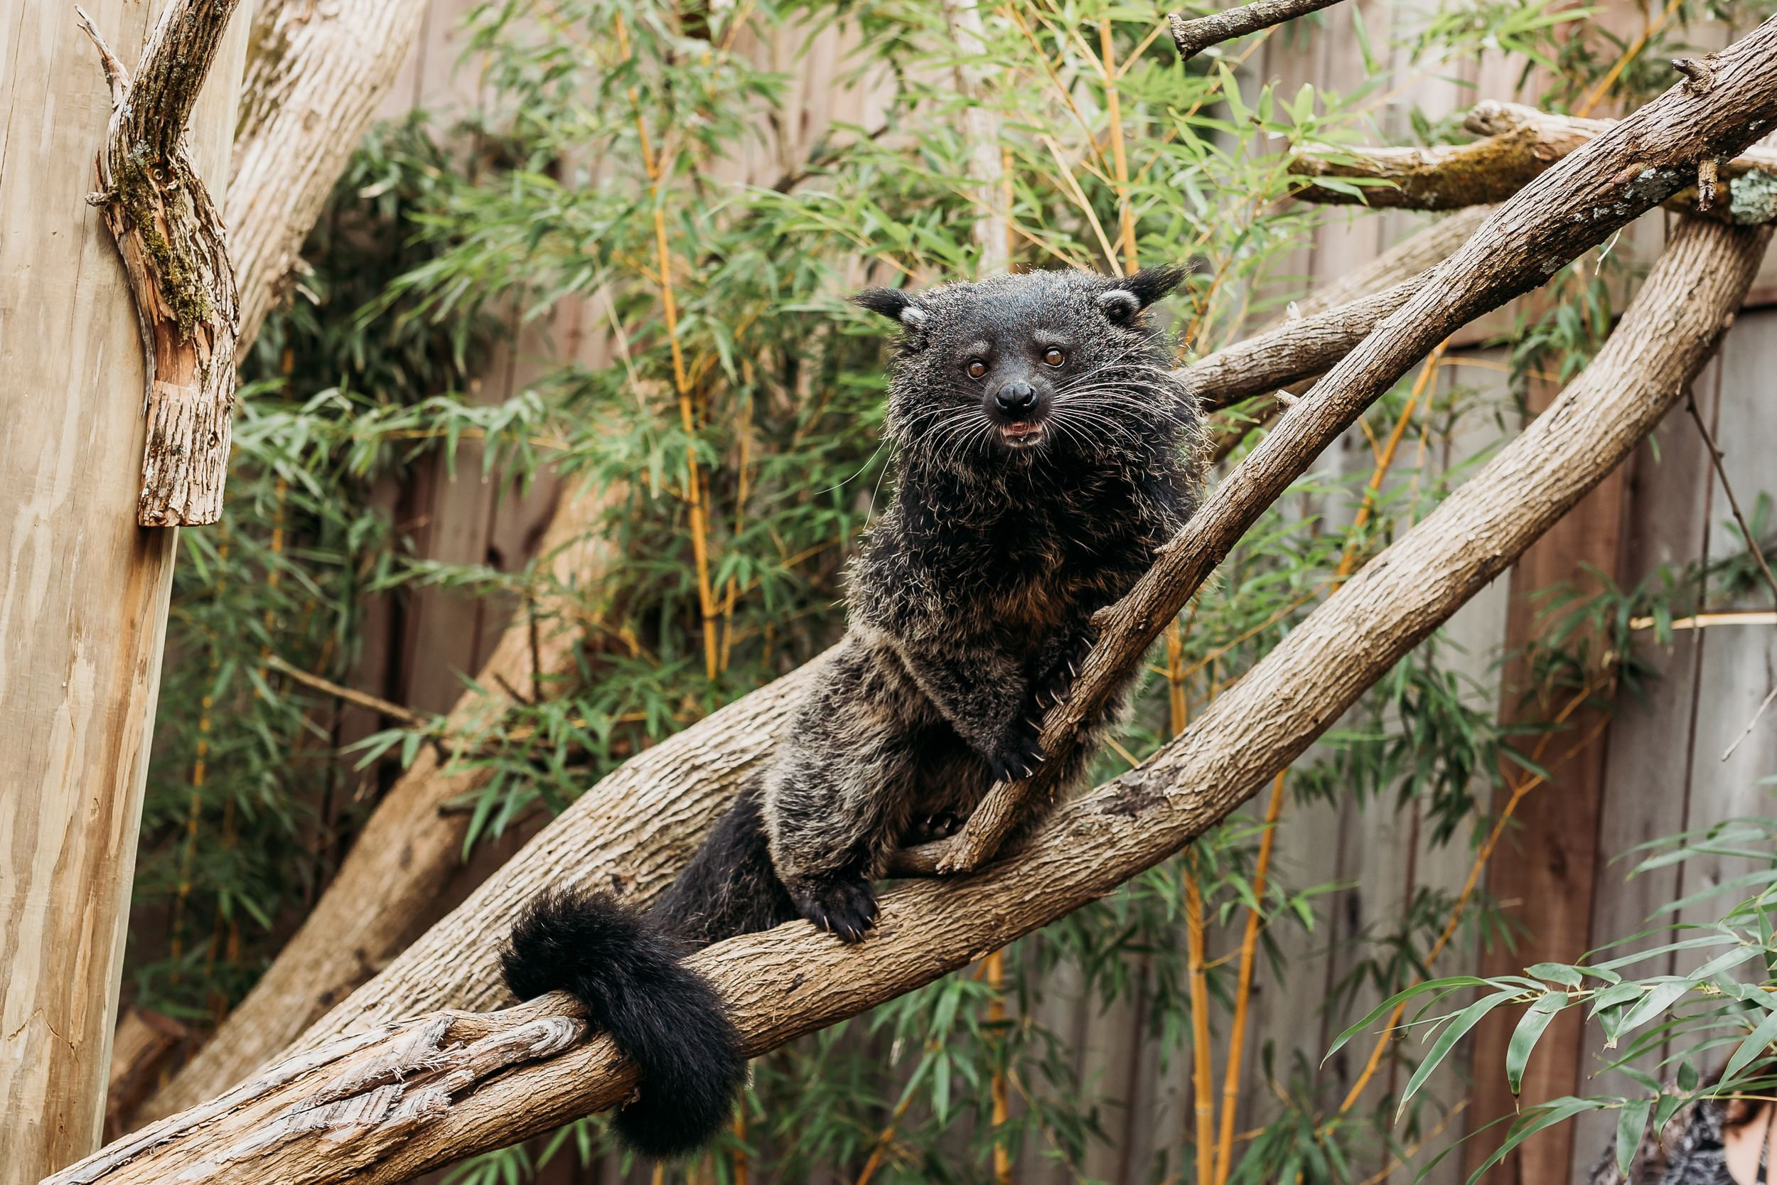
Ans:
<svg viewBox="0 0 1777 1185"><path fill-rule="evenodd" d="M844 640L647 913L554 888L501 952L519 998L570 993L636 1062L615 1119L633 1149L700 1148L746 1075L684 952L796 919L864 942L897 847L952 833L995 782L1045 762L1064 762L1059 794L1084 783L1130 680L1066 755L1043 752L1041 716L1068 698L1093 613L1196 506L1201 418L1146 314L1182 277L1029 272L855 298L897 322L901 345L896 490L851 563Z"/></svg>

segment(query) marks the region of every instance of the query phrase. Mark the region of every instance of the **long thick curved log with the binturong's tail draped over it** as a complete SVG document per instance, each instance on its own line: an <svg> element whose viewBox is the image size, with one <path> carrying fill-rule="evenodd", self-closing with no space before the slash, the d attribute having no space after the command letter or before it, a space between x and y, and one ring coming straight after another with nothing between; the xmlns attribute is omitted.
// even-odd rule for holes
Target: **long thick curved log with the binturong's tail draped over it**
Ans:
<svg viewBox="0 0 1777 1185"><path fill-rule="evenodd" d="M698 952L691 965L723 995L745 1050L762 1054L963 966L1231 814L1630 455L1733 322L1768 238L1765 227L1683 224L1619 330L1548 412L1176 741L1064 807L1018 858L887 894L860 945L793 922ZM583 1039L572 1007L546 997L338 1038L46 1185L409 1180L627 1098L633 1066L608 1039Z"/></svg>

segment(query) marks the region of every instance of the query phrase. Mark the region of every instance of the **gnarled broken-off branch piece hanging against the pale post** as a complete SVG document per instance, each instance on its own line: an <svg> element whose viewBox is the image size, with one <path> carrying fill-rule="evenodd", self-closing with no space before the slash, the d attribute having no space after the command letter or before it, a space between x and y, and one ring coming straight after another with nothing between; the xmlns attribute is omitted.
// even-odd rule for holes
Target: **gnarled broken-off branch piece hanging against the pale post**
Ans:
<svg viewBox="0 0 1777 1185"><path fill-rule="evenodd" d="M117 240L142 332L147 442L135 513L142 526L222 517L235 407L235 270L185 124L235 4L169 4L147 34L135 80L76 9L112 92L100 192L89 201Z"/></svg>

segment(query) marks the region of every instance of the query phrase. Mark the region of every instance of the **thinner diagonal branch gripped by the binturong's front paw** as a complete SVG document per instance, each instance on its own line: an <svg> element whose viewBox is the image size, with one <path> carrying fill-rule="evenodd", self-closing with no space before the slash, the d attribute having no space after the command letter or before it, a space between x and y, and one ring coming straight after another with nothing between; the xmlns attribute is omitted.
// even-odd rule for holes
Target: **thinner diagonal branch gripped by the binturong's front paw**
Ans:
<svg viewBox="0 0 1777 1185"><path fill-rule="evenodd" d="M1072 696L1043 720L1041 744L1063 753L1080 723L1098 712L1123 673L1215 565L1320 451L1356 421L1434 345L1475 316L1542 284L1560 266L1695 176L1706 156L1733 156L1777 124L1777 18L1711 55L1708 98L1676 85L1564 156L1503 203L1363 345L1292 407L1146 576L1095 622L1098 643L1080 666ZM913 853L940 872L967 872L999 851L1032 796L1054 792L1048 762L1027 782L993 787L963 830Z"/></svg>

